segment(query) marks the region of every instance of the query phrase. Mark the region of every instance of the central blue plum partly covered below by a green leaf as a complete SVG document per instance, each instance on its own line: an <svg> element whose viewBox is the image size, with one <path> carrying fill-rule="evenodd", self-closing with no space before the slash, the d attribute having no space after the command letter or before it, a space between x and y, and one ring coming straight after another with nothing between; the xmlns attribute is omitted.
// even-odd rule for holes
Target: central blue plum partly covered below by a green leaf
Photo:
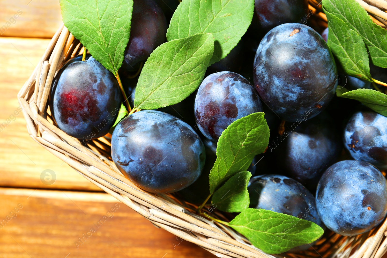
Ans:
<svg viewBox="0 0 387 258"><path fill-rule="evenodd" d="M196 124L214 142L233 121L262 110L254 88L238 73L213 73L203 80L196 94Z"/></svg>

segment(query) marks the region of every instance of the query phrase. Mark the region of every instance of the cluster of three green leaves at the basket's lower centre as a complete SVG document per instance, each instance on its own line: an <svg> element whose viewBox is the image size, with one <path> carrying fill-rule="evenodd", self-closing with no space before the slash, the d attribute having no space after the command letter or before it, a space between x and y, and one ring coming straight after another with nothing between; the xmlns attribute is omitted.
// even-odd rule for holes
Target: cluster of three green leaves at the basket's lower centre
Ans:
<svg viewBox="0 0 387 258"><path fill-rule="evenodd" d="M211 202L225 212L241 212L228 223L254 246L271 254L283 253L317 240L324 230L317 224L286 214L248 208L250 198L246 171L253 157L269 143L264 113L253 113L234 121L219 137L216 162L209 175Z"/></svg>

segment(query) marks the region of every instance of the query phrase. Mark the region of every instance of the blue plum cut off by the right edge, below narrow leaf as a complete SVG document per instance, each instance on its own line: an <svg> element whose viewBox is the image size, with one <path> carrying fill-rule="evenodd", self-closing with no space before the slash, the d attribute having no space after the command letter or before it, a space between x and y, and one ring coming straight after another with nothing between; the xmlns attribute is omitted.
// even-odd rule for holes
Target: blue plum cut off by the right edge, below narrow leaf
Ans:
<svg viewBox="0 0 387 258"><path fill-rule="evenodd" d="M373 111L356 111L344 129L344 146L359 161L387 169L387 118Z"/></svg>

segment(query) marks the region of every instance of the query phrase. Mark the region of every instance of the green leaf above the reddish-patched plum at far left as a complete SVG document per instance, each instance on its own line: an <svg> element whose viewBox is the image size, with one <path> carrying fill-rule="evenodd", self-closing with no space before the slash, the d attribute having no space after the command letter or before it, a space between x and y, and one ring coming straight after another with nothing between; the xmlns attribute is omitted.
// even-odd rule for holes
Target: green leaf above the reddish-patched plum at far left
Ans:
<svg viewBox="0 0 387 258"><path fill-rule="evenodd" d="M116 75L130 36L133 0L60 0L63 23Z"/></svg>

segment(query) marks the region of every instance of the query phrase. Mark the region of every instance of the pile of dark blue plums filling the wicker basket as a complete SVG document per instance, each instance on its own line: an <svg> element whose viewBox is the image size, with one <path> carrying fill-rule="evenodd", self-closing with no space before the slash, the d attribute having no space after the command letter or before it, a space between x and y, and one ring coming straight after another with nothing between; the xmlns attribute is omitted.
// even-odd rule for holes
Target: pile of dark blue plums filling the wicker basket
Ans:
<svg viewBox="0 0 387 258"><path fill-rule="evenodd" d="M170 10L164 11L170 19ZM208 176L223 130L265 112L270 141L248 168L250 207L293 215L345 236L380 224L387 213L381 172L387 169L387 118L335 96L337 87L372 85L338 73L324 38L302 24L307 12L304 0L256 0L248 33L207 69L197 91L178 104L137 111L118 123L111 135L118 169L146 191L176 192L201 203L209 194ZM135 73L166 41L166 28L164 12L153 0L134 0L120 70L132 104ZM371 73L387 74L376 67ZM122 101L112 73L91 56L85 61L76 56L55 77L50 110L58 128L86 144L109 132Z"/></svg>

